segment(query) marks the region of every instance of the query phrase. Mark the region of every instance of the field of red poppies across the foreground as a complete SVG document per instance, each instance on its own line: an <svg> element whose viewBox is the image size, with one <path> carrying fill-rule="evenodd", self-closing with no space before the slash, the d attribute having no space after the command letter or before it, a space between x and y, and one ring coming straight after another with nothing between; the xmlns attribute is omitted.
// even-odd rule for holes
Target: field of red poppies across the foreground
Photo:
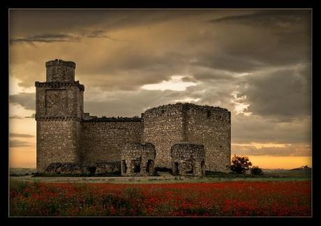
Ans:
<svg viewBox="0 0 321 226"><path fill-rule="evenodd" d="M10 216L311 216L311 181L10 182Z"/></svg>

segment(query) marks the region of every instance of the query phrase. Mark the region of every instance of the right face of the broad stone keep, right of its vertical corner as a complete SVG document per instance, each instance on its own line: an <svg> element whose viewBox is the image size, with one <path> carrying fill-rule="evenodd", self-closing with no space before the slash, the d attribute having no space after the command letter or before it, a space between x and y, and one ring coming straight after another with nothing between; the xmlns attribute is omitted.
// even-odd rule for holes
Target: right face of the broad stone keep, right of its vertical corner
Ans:
<svg viewBox="0 0 321 226"><path fill-rule="evenodd" d="M230 112L221 107L185 104L186 141L204 144L209 171L227 172L231 156Z"/></svg>

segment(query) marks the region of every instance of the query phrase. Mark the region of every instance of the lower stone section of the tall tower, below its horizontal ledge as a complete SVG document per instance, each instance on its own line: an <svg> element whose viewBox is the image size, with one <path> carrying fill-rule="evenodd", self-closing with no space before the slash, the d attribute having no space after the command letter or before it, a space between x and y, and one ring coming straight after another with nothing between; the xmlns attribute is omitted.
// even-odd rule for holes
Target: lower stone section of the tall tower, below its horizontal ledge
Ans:
<svg viewBox="0 0 321 226"><path fill-rule="evenodd" d="M37 172L44 172L50 163L79 163L80 133L80 121L38 120Z"/></svg>

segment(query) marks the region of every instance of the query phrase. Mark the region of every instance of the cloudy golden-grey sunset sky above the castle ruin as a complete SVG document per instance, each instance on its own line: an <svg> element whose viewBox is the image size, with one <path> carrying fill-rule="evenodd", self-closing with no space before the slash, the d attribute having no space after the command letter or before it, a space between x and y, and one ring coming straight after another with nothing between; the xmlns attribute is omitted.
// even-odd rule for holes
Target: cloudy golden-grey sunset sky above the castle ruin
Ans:
<svg viewBox="0 0 321 226"><path fill-rule="evenodd" d="M232 155L311 166L311 10L10 10L9 165L36 167L36 81L76 63L84 112L231 112Z"/></svg>

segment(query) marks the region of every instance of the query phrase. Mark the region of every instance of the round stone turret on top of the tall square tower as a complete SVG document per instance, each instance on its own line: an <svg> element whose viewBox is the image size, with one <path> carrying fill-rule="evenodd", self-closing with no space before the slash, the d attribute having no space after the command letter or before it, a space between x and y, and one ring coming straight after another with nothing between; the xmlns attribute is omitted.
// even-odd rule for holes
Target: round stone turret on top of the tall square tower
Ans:
<svg viewBox="0 0 321 226"><path fill-rule="evenodd" d="M75 81L76 64L73 61L55 59L45 63L47 68L47 82L73 82Z"/></svg>

